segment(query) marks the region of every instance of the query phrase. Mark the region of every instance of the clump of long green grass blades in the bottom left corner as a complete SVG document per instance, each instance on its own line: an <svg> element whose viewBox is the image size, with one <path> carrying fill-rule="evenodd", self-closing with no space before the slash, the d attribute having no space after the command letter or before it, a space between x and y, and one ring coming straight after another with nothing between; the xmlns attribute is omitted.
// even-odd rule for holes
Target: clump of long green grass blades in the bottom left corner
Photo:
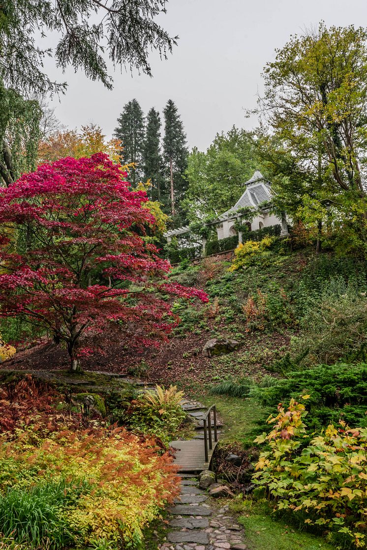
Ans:
<svg viewBox="0 0 367 550"><path fill-rule="evenodd" d="M65 519L65 508L72 507L85 482L47 483L24 489L10 489L0 497L0 532L29 548L58 550L73 541Z"/></svg>

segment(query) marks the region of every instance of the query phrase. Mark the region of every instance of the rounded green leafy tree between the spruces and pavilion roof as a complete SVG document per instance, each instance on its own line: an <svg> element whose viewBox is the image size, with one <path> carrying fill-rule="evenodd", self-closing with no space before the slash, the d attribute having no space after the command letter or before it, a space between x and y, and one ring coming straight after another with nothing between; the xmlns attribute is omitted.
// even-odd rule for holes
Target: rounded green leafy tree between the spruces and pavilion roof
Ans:
<svg viewBox="0 0 367 550"><path fill-rule="evenodd" d="M188 157L184 202L190 221L220 215L235 204L246 182L259 169L254 135L233 127L217 134L207 151L196 147Z"/></svg>

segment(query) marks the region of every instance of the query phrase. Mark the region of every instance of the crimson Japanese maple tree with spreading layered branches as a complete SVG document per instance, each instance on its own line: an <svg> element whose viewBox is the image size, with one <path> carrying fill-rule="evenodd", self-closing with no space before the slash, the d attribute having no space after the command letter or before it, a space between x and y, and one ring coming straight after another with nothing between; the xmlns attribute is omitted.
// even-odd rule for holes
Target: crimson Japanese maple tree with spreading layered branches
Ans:
<svg viewBox="0 0 367 550"><path fill-rule="evenodd" d="M108 324L145 345L166 338L174 316L160 293L207 301L165 282L169 262L144 238L155 226L147 196L126 175L97 153L43 164L0 190L0 316L47 329L72 370L92 353L83 337Z"/></svg>

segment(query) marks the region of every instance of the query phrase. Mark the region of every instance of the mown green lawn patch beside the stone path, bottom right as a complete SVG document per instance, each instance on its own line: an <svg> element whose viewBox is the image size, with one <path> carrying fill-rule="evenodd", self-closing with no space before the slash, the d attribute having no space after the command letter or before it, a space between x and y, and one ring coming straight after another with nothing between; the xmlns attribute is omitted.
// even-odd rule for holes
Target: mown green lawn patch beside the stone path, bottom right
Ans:
<svg viewBox="0 0 367 550"><path fill-rule="evenodd" d="M239 515L238 522L244 527L251 550L335 550L319 536L300 531L286 521L272 516L271 508L265 502L235 499L231 511Z"/></svg>

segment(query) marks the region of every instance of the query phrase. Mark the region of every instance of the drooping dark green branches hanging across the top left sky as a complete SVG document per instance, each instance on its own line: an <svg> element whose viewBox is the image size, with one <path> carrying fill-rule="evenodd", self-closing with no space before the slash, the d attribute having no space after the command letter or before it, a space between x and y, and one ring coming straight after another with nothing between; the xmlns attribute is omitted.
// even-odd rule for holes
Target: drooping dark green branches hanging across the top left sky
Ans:
<svg viewBox="0 0 367 550"><path fill-rule="evenodd" d="M162 57L172 51L171 38L156 17L167 0L3 0L0 6L0 78L26 92L65 88L43 72L43 59L53 56L65 70L82 69L92 80L112 87L105 52L113 65L151 74L149 50ZM54 50L42 50L35 33L58 34ZM107 47L106 47L107 46Z"/></svg>

